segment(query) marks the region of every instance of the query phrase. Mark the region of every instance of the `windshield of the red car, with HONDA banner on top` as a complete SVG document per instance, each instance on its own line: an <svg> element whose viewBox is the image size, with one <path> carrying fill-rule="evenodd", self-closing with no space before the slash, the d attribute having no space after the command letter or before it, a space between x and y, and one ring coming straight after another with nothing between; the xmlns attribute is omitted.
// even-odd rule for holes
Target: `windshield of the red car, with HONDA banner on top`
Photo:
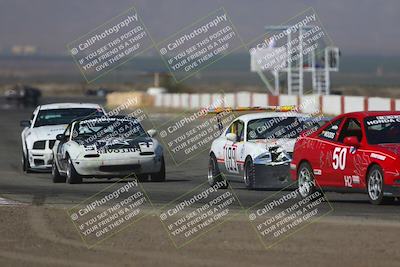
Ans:
<svg viewBox="0 0 400 267"><path fill-rule="evenodd" d="M400 143L400 115L371 116L364 124L369 144Z"/></svg>

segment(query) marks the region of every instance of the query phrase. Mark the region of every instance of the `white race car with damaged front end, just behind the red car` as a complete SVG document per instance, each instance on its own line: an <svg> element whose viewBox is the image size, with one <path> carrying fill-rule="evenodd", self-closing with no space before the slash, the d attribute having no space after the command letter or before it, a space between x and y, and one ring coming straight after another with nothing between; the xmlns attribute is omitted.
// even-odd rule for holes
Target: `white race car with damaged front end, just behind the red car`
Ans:
<svg viewBox="0 0 400 267"><path fill-rule="evenodd" d="M320 124L320 117L293 111L239 116L211 145L209 184L221 181L223 173L230 180L244 182L248 189L288 186L296 138Z"/></svg>

